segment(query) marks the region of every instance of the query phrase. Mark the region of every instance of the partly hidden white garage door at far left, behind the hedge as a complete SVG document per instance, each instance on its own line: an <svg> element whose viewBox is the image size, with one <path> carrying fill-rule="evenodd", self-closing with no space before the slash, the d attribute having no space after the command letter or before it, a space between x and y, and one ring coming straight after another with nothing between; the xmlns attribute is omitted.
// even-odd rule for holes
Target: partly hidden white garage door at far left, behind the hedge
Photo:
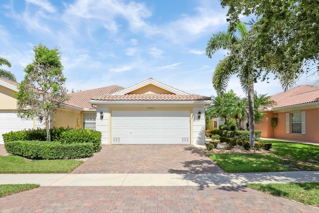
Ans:
<svg viewBox="0 0 319 213"><path fill-rule="evenodd" d="M3 133L32 128L33 120L21 120L14 111L0 111L0 144L3 144Z"/></svg>

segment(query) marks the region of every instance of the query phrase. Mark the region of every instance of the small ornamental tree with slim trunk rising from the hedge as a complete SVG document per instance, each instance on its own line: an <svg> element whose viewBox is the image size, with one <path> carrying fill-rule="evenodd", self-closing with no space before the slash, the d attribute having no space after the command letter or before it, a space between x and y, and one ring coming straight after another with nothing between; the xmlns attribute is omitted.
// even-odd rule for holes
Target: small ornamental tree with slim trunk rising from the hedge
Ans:
<svg viewBox="0 0 319 213"><path fill-rule="evenodd" d="M46 138L51 141L51 117L59 108L64 108L64 102L68 100L61 52L57 47L49 49L41 43L34 46L33 51L34 59L24 68L24 80L14 94L17 114L22 119L44 119Z"/></svg>

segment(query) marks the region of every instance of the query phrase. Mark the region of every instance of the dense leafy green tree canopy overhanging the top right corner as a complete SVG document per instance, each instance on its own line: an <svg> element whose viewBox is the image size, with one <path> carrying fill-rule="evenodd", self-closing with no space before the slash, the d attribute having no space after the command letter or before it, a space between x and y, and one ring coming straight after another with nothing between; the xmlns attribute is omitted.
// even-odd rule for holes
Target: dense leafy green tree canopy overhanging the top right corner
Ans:
<svg viewBox="0 0 319 213"><path fill-rule="evenodd" d="M303 73L319 75L319 0L221 0L221 5L228 8L231 30L240 16L254 15L244 47L262 80L272 73L287 90Z"/></svg>

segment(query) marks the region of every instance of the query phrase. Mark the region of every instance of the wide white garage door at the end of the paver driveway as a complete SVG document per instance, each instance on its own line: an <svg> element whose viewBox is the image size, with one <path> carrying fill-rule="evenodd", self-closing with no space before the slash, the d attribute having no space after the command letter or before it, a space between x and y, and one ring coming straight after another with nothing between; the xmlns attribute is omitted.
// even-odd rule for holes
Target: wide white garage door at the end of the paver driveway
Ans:
<svg viewBox="0 0 319 213"><path fill-rule="evenodd" d="M189 111L113 110L112 144L190 144Z"/></svg>

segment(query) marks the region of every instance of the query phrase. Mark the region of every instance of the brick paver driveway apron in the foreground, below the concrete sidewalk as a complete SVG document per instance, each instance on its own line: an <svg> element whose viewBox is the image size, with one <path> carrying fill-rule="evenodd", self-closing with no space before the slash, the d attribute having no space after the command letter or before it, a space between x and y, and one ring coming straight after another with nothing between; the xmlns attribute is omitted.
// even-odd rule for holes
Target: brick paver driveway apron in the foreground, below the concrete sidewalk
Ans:
<svg viewBox="0 0 319 213"><path fill-rule="evenodd" d="M41 187L0 198L1 213L318 213L246 187Z"/></svg>

